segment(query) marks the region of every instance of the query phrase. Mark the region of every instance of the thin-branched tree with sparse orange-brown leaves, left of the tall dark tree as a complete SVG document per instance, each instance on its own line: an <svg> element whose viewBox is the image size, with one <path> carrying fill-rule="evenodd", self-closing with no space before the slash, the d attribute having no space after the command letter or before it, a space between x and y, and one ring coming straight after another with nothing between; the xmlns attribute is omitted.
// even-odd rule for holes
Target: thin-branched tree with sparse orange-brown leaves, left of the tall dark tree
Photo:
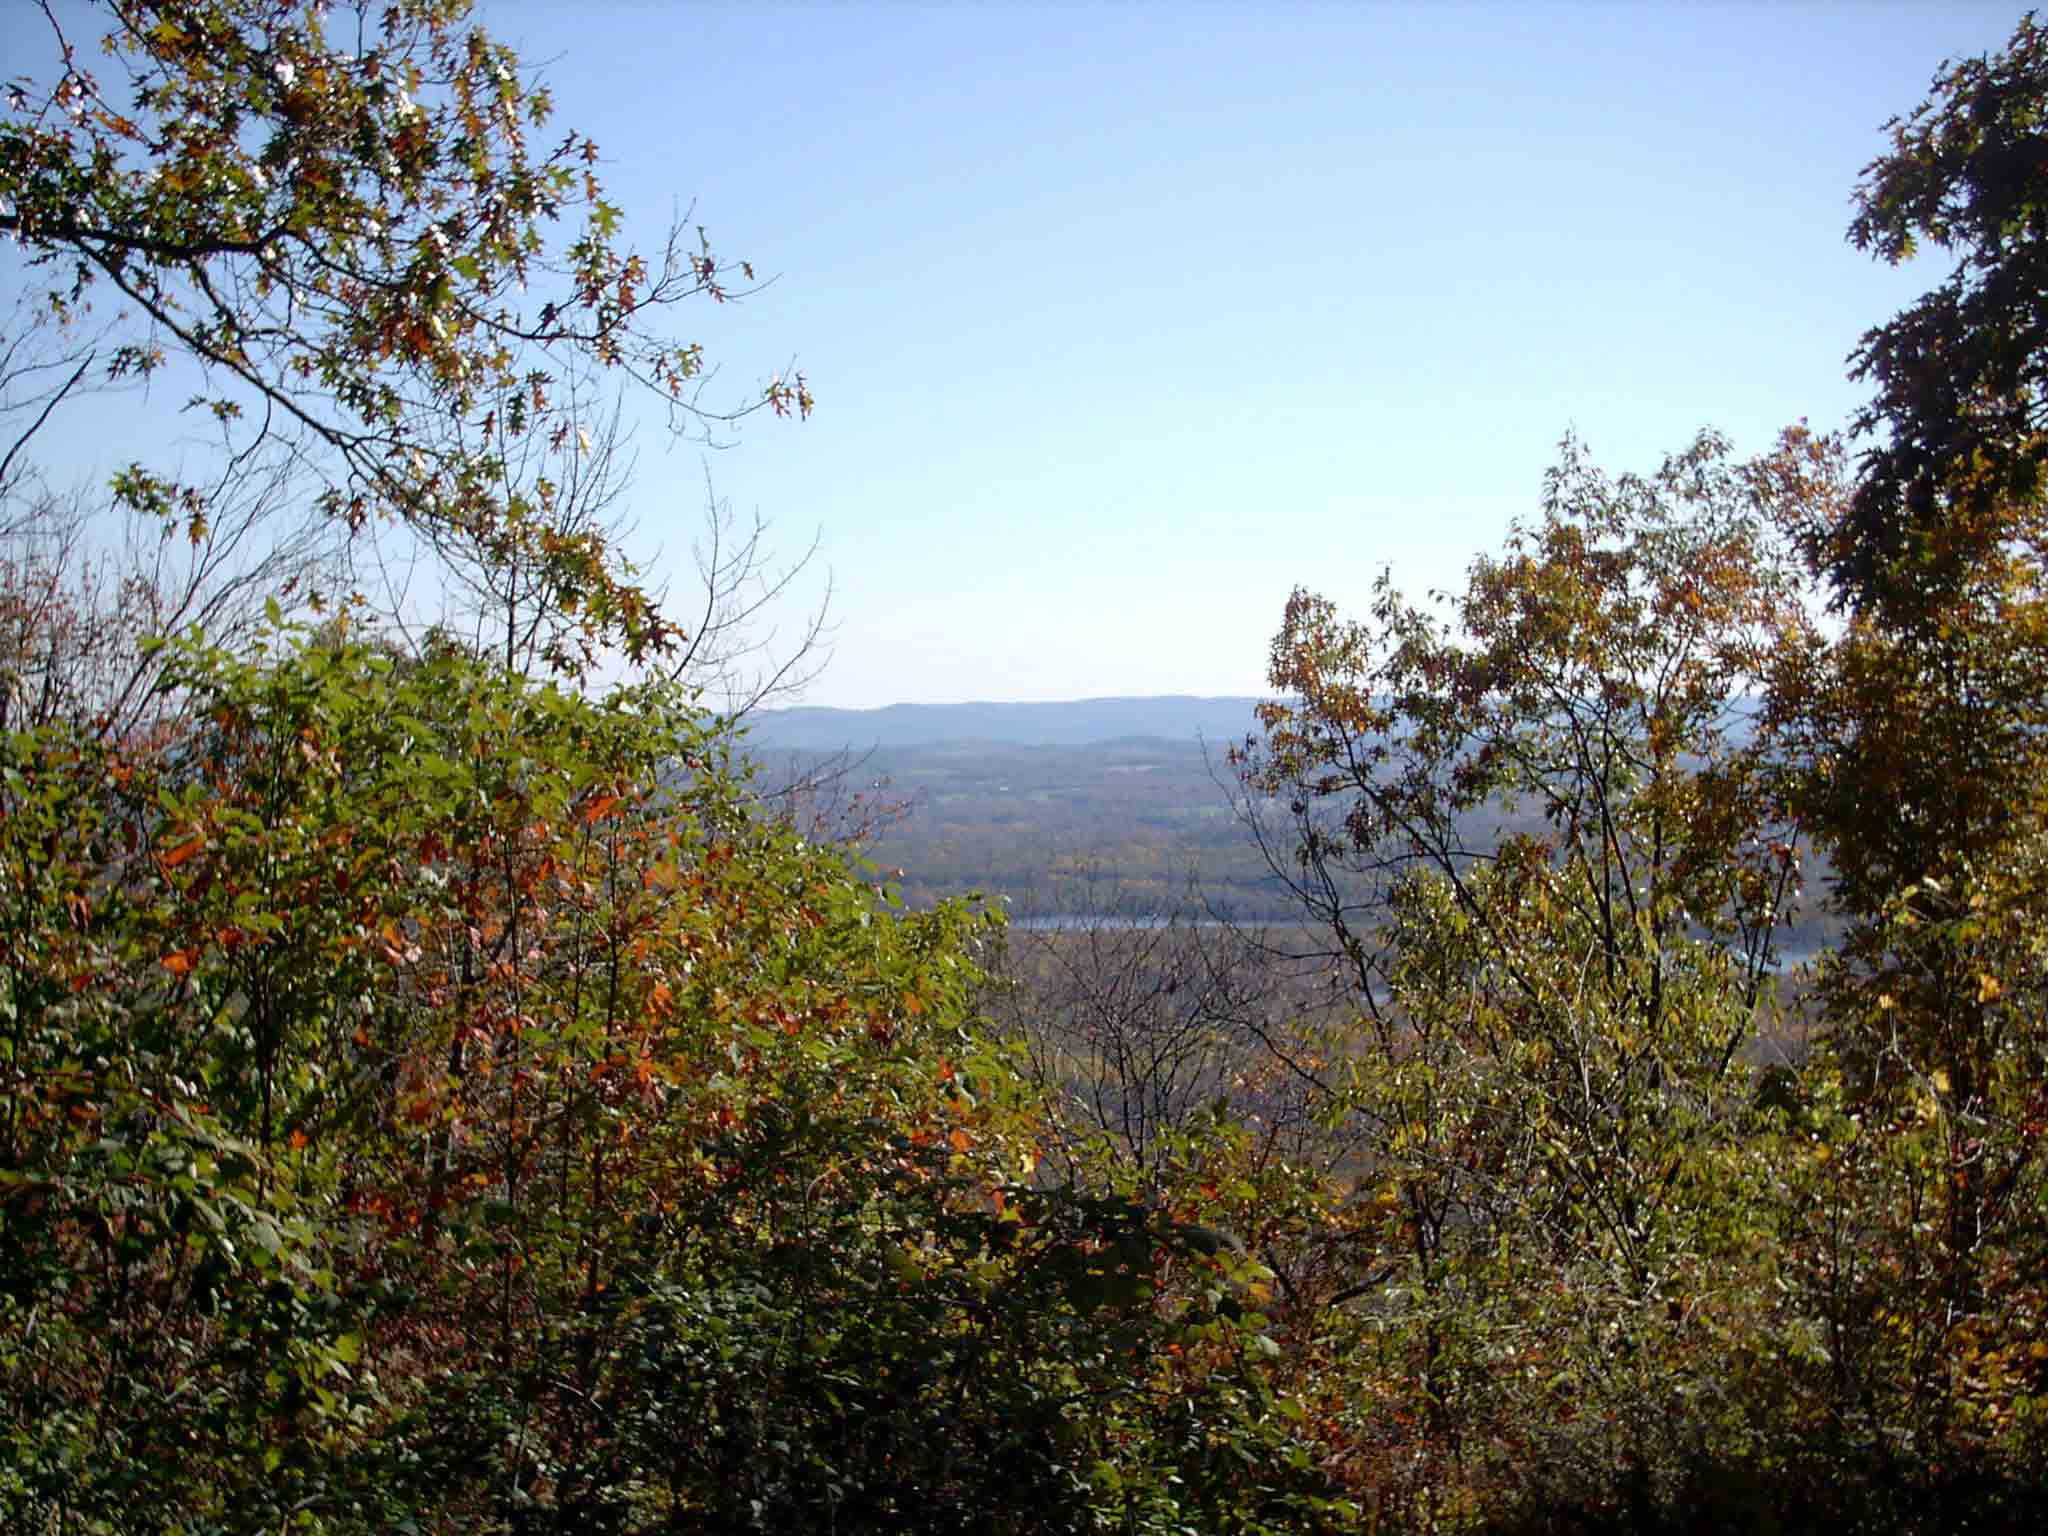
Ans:
<svg viewBox="0 0 2048 1536"><path fill-rule="evenodd" d="M1561 897L1604 977L1714 938L1755 997L1798 879L1741 752L1745 688L1800 629L1767 473L1702 436L1655 477L1608 481L1567 442L1542 524L1475 563L1454 623L1386 582L1372 625L1288 602L1270 668L1284 700L1237 762L1294 817L1276 872L1339 938L1368 1016L1393 963L1378 915L1413 874L1481 920L1470 881L1532 858L1569 870ZM1647 985L1630 1001L1655 1020Z"/></svg>

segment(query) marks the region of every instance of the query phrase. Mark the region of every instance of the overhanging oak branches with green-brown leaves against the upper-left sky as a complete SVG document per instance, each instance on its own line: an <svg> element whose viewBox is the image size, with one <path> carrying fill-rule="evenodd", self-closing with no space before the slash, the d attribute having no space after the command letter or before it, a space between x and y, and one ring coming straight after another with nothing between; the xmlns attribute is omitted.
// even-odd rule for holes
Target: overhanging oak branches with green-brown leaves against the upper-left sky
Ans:
<svg viewBox="0 0 2048 1536"><path fill-rule="evenodd" d="M545 147L547 92L465 0L354 25L266 0L104 10L111 78L45 10L55 78L16 84L0 119L0 233L49 274L41 307L72 326L100 295L123 309L100 377L182 362L229 453L313 467L338 524L516 557L590 645L672 643L602 530L557 524L559 487L604 377L651 389L678 428L809 412L801 375L705 406L700 348L655 326L752 272L700 231L625 250L598 147ZM115 492L205 532L203 487L137 463Z"/></svg>

